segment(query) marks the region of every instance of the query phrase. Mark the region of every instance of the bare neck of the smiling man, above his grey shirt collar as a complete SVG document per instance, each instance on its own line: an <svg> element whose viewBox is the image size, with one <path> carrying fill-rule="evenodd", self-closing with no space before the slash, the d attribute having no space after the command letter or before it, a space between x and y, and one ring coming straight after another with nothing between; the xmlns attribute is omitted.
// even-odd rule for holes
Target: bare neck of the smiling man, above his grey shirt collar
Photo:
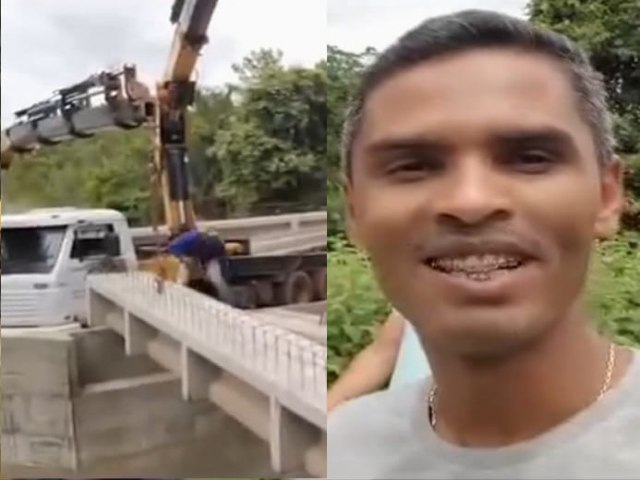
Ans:
<svg viewBox="0 0 640 480"><path fill-rule="evenodd" d="M596 401L609 349L610 342L573 314L545 339L499 360L448 358L434 351L436 430L462 446L531 439Z"/></svg>

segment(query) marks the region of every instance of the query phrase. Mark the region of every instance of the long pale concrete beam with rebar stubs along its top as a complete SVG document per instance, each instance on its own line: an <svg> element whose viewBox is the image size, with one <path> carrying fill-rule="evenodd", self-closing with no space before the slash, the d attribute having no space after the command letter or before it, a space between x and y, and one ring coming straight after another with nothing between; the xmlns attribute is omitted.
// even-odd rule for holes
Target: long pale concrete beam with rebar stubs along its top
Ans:
<svg viewBox="0 0 640 480"><path fill-rule="evenodd" d="M92 325L179 374L185 400L208 398L267 441L275 471L324 476L325 345L144 272L91 276L88 291Z"/></svg>

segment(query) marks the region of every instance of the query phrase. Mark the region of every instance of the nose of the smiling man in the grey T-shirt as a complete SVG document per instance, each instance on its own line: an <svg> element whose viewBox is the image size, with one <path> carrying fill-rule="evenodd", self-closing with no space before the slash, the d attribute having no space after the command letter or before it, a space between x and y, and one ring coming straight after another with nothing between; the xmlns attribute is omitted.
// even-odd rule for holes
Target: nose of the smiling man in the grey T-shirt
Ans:
<svg viewBox="0 0 640 480"><path fill-rule="evenodd" d="M440 223L470 227L511 216L513 202L504 179L484 162L460 162L448 180L436 206Z"/></svg>

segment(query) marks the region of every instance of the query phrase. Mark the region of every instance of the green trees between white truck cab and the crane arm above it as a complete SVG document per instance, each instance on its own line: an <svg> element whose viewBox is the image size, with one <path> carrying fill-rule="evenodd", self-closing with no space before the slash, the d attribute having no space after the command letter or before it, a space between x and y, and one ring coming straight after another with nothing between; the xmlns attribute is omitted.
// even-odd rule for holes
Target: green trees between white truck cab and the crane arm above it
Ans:
<svg viewBox="0 0 640 480"><path fill-rule="evenodd" d="M147 217L145 132L111 132L19 157L6 175L9 207L107 207L134 223Z"/></svg>

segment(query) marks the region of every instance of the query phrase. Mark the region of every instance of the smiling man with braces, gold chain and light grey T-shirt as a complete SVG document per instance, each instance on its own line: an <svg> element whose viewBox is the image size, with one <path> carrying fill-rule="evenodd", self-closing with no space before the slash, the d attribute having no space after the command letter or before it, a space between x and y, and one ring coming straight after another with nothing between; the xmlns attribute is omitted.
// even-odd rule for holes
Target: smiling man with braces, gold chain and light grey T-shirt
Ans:
<svg viewBox="0 0 640 480"><path fill-rule="evenodd" d="M383 52L347 120L349 228L433 375L337 408L329 478L640 477L639 355L583 306L612 150L564 37L465 11Z"/></svg>

